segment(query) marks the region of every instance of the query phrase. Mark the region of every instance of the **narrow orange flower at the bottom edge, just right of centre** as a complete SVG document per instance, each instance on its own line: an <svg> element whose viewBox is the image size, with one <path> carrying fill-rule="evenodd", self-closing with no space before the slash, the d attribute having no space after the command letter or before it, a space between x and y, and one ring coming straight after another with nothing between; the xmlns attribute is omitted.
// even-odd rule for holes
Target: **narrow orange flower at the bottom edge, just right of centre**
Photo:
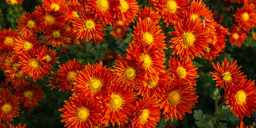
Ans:
<svg viewBox="0 0 256 128"><path fill-rule="evenodd" d="M154 98L143 98L137 101L133 113L133 127L156 127L161 118L159 102Z"/></svg>

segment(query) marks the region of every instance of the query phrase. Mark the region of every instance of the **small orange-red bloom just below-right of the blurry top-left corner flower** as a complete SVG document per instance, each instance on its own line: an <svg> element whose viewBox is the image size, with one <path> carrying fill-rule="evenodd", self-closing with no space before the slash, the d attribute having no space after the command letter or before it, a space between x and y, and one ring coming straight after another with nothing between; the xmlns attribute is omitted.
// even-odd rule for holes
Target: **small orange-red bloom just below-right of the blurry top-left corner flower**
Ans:
<svg viewBox="0 0 256 128"><path fill-rule="evenodd" d="M20 19L17 20L19 25L17 26L17 31L29 30L34 33L40 33L42 26L41 20L42 19L38 18L36 15L36 12L25 12L20 16Z"/></svg>

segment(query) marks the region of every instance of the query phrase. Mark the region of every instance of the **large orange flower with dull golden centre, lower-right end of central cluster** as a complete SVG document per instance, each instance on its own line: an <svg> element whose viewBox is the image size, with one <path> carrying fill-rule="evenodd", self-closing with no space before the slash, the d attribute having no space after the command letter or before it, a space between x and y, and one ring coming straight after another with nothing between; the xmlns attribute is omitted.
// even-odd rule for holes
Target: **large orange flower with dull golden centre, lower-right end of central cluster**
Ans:
<svg viewBox="0 0 256 128"><path fill-rule="evenodd" d="M195 107L198 98L195 91L196 88L189 84L176 79L171 81L169 90L160 102L160 109L163 109L166 122L170 117L172 121L173 118L181 120L186 113L192 113L191 109Z"/></svg>

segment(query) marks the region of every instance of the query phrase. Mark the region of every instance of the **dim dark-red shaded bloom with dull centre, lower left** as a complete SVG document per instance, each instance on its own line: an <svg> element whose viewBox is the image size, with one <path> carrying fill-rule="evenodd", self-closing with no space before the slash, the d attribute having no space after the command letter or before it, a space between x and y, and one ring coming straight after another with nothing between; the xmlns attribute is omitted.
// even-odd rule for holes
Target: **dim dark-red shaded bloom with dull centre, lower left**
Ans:
<svg viewBox="0 0 256 128"><path fill-rule="evenodd" d="M17 97L23 103L23 108L30 109L30 111L35 106L38 106L38 102L45 97L42 86L30 82L20 84L19 87L16 88L15 93L17 93Z"/></svg>

